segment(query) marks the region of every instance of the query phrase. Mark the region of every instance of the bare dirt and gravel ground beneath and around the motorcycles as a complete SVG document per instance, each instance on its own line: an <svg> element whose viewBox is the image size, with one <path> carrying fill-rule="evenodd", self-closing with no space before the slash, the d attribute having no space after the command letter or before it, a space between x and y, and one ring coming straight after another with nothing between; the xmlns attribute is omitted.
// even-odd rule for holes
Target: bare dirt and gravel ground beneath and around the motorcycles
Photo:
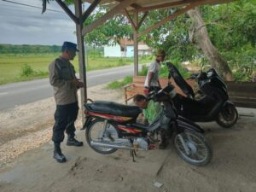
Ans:
<svg viewBox="0 0 256 192"><path fill-rule="evenodd" d="M106 90L104 85L90 88L89 97L122 102L120 90ZM0 113L1 192L256 191L255 109L238 108L241 116L232 129L214 122L200 124L214 153L203 167L180 159L172 143L165 150L138 152L135 163L129 151L102 155L86 143L81 148L63 144L67 163L56 163L50 142L54 110L50 98ZM84 131L77 132L85 142Z"/></svg>

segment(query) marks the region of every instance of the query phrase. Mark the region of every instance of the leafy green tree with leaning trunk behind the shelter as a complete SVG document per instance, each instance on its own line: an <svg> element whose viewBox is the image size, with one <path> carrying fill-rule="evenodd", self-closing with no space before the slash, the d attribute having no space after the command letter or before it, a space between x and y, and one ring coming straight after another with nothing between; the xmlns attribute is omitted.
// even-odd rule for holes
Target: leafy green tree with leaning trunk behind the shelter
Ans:
<svg viewBox="0 0 256 192"><path fill-rule="evenodd" d="M64 2L70 4L73 0ZM90 15L84 25L89 25L107 10L107 7L100 7ZM178 10L150 11L140 30L154 25ZM252 79L253 71L256 70L256 1L237 0L215 6L205 5L201 7L201 12L195 13L191 10L189 13L190 17L179 15L175 20L148 32L139 40L154 49L166 49L174 62L194 61L199 58L204 63L212 64L225 79L232 79L229 67L232 68L236 79ZM196 29L196 26L200 27ZM112 20L86 34L85 41L86 44L98 46L119 43L120 38L127 37L132 37L131 25L124 15L116 15ZM191 43L191 37L195 44ZM202 41L203 37L207 38L206 42ZM198 47L200 49L197 49ZM244 73L241 75L241 72Z"/></svg>

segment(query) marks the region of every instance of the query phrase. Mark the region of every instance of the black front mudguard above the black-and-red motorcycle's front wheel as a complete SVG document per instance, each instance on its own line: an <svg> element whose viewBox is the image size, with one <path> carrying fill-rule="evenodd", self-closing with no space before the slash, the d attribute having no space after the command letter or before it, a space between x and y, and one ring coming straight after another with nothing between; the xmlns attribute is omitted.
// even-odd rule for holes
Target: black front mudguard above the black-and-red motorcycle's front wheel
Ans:
<svg viewBox="0 0 256 192"><path fill-rule="evenodd" d="M197 124L195 124L193 121L189 119L185 119L182 116L177 117L177 126L180 129L183 129L183 131L197 131L204 133L205 131Z"/></svg>

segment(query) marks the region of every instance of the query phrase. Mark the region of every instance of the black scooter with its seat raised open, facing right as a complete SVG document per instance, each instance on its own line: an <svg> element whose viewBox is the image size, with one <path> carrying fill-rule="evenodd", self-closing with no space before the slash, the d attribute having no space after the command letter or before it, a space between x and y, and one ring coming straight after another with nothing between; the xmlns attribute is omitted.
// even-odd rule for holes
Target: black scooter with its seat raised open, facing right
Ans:
<svg viewBox="0 0 256 192"><path fill-rule="evenodd" d="M171 62L166 62L166 66L169 69L168 79L173 78L186 94L186 96L177 94L172 98L177 113L194 122L216 121L224 128L230 128L236 124L238 113L234 104L229 101L227 85L213 68L207 73L201 72L191 76L191 79L197 79L199 88L194 93L178 72L177 67Z"/></svg>

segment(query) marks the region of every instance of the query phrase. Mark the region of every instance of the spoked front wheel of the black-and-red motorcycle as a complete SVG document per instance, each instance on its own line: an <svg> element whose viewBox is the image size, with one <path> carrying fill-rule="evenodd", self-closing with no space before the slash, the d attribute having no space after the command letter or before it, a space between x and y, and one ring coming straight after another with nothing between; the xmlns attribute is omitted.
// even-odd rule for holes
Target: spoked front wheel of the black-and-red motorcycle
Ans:
<svg viewBox="0 0 256 192"><path fill-rule="evenodd" d="M194 166L206 166L212 160L212 147L198 132L185 131L174 137L177 154Z"/></svg>

